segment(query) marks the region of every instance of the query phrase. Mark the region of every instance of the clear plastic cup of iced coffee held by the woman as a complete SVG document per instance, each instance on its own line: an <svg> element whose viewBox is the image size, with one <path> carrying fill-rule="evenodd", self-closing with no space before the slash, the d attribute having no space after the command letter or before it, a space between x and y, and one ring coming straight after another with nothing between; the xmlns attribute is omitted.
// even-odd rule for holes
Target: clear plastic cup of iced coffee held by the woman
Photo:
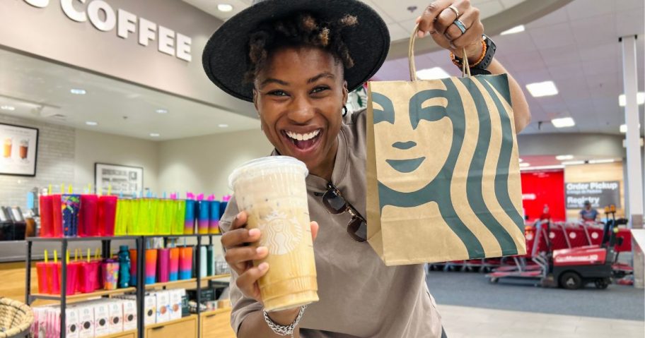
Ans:
<svg viewBox="0 0 645 338"><path fill-rule="evenodd" d="M260 246L269 249L269 271L258 280L267 311L318 301L303 162L293 157L254 159L228 178L248 229L260 229ZM255 246L258 243L254 244Z"/></svg>

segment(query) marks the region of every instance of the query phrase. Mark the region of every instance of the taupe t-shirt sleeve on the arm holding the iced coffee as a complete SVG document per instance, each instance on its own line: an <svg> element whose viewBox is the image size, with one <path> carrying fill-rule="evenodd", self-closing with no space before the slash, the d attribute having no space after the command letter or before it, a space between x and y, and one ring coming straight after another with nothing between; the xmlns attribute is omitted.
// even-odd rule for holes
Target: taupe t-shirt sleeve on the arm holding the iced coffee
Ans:
<svg viewBox="0 0 645 338"><path fill-rule="evenodd" d="M233 198L228 201L224 214L220 217L219 227L223 234L231 229L231 222L233 222L233 218L238 215L238 212L239 210L235 196L233 196ZM231 306L233 307L231 310L231 327L233 327L233 330L238 334L238 330L240 330L242 322L251 313L262 310L262 304L258 303L253 298L244 296L236 284L236 279L238 279L238 274L231 269L231 283L228 286L228 295L231 298Z"/></svg>

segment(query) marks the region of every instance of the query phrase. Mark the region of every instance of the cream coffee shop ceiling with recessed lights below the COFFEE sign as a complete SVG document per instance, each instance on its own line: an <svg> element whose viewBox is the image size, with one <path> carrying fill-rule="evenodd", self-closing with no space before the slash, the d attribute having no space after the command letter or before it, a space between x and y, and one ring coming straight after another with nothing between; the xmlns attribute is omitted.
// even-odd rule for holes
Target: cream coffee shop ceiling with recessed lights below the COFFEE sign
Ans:
<svg viewBox="0 0 645 338"><path fill-rule="evenodd" d="M72 89L86 94L74 95ZM158 114L157 109L168 112ZM260 128L257 119L4 49L0 114L150 140ZM88 121L98 125L88 126Z"/></svg>

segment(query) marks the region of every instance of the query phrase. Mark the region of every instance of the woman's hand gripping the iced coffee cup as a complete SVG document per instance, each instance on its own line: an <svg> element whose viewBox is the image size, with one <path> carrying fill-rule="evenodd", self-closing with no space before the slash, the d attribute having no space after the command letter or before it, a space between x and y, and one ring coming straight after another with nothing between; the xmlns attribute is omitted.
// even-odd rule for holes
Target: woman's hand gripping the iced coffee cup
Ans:
<svg viewBox="0 0 645 338"><path fill-rule="evenodd" d="M269 263L262 262L262 264L254 267L252 261L267 258L269 250L266 246L257 246L257 248L252 246L252 243L260 241L260 229L246 229L247 220L248 215L246 212L240 212L231 222L231 229L222 235L221 243L226 249L224 256L226 262L238 274L236 285L240 291L245 296L253 298L262 304L260 286L257 285L257 280L267 273ZM312 240L315 241L318 235L318 223L311 222L310 227ZM297 310L295 315L298 314ZM292 310L286 311L289 312L289 316L294 313ZM277 314L279 312L272 313L272 317L274 315L279 317L279 314Z"/></svg>

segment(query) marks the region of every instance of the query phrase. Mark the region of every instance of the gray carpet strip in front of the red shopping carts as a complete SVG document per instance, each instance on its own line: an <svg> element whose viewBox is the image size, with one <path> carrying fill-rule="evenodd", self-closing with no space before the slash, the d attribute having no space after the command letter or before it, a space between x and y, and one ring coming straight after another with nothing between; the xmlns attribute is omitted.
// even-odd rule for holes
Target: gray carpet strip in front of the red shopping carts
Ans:
<svg viewBox="0 0 645 338"><path fill-rule="evenodd" d="M491 284L479 272L430 272L427 283L439 304L561 315L645 320L645 294L633 286L610 285L598 290L564 290L525 281Z"/></svg>

